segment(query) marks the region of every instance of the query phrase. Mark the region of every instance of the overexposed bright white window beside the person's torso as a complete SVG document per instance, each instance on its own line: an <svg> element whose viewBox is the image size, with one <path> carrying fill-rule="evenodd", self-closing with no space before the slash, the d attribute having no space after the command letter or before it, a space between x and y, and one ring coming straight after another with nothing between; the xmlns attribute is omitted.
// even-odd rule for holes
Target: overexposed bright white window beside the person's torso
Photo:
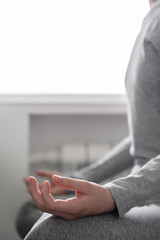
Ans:
<svg viewBox="0 0 160 240"><path fill-rule="evenodd" d="M0 2L0 94L123 94L147 0Z"/></svg>

